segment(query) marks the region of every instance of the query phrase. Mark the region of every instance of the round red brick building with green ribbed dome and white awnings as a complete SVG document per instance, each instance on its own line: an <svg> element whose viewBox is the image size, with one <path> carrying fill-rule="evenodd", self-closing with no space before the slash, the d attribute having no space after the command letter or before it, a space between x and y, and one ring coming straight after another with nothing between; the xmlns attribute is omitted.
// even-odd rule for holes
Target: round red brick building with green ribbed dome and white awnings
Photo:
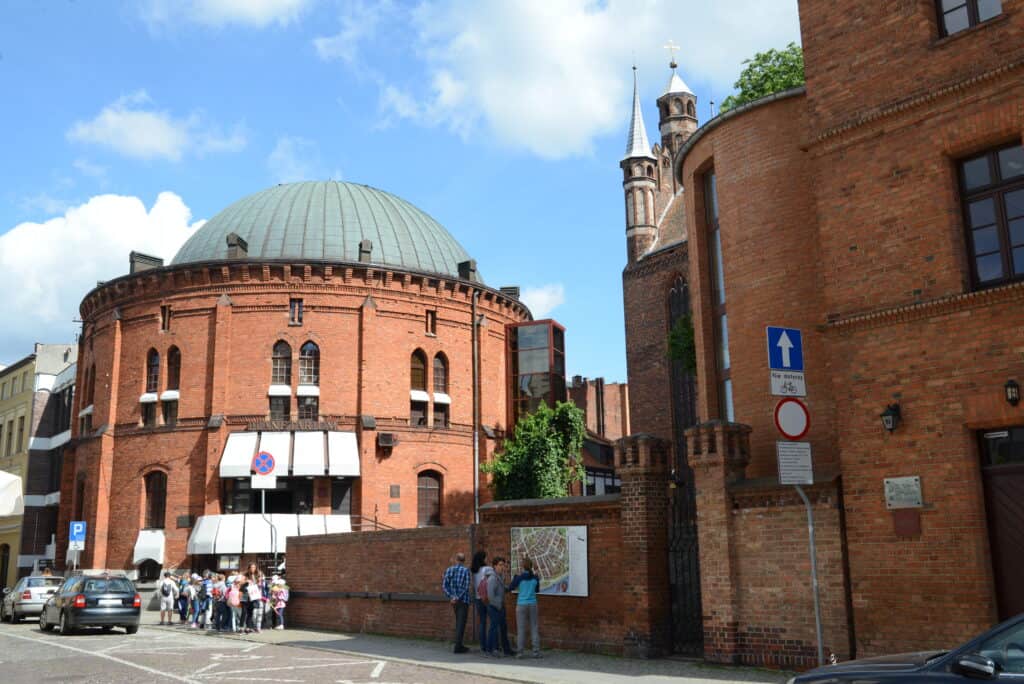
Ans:
<svg viewBox="0 0 1024 684"><path fill-rule="evenodd" d="M530 314L430 216L365 185L278 185L130 270L81 305L58 563L70 520L80 566L140 578L473 520L474 463L517 405L506 338Z"/></svg>

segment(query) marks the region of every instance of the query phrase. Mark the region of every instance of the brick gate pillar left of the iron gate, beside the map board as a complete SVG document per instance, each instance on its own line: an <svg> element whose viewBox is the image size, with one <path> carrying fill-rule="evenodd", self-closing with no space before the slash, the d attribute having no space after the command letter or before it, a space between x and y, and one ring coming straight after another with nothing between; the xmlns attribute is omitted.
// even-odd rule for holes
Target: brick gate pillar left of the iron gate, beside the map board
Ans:
<svg viewBox="0 0 1024 684"><path fill-rule="evenodd" d="M615 443L623 482L623 613L625 654L658 657L671 650L669 621L668 440L631 435Z"/></svg>

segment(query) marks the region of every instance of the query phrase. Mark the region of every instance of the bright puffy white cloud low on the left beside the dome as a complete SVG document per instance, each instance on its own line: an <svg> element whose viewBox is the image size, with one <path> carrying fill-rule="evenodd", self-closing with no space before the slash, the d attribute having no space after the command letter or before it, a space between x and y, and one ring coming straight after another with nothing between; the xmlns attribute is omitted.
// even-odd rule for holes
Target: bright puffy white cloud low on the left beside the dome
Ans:
<svg viewBox="0 0 1024 684"><path fill-rule="evenodd" d="M150 210L138 198L100 195L0 234L0 359L20 358L33 342L74 340L72 320L97 281L127 273L132 250L169 261L203 223L173 193Z"/></svg>

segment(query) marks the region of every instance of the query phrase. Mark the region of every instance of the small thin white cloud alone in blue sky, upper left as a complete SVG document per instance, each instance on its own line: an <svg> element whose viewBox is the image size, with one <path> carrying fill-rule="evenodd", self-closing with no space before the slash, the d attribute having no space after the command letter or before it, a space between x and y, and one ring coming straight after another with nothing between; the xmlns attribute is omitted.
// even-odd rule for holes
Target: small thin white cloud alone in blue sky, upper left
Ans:
<svg viewBox="0 0 1024 684"><path fill-rule="evenodd" d="M110 147L132 159L172 162L180 161L186 153L202 157L237 152L246 145L242 124L225 135L218 127L206 125L198 113L175 118L154 109L144 90L122 95L90 121L75 122L68 130L68 139Z"/></svg>

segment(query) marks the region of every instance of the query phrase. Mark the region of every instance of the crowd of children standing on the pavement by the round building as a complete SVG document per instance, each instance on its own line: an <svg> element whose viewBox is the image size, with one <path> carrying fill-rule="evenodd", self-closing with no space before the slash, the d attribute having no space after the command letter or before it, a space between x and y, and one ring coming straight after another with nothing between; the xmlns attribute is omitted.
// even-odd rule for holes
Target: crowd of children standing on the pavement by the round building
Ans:
<svg viewBox="0 0 1024 684"><path fill-rule="evenodd" d="M267 579L255 563L245 573L228 576L209 570L202 576L164 572L157 592L161 625L171 625L177 612L179 623L194 630L209 627L217 632L258 634L264 614L269 612L275 623L273 629L285 629L288 585L278 575Z"/></svg>

